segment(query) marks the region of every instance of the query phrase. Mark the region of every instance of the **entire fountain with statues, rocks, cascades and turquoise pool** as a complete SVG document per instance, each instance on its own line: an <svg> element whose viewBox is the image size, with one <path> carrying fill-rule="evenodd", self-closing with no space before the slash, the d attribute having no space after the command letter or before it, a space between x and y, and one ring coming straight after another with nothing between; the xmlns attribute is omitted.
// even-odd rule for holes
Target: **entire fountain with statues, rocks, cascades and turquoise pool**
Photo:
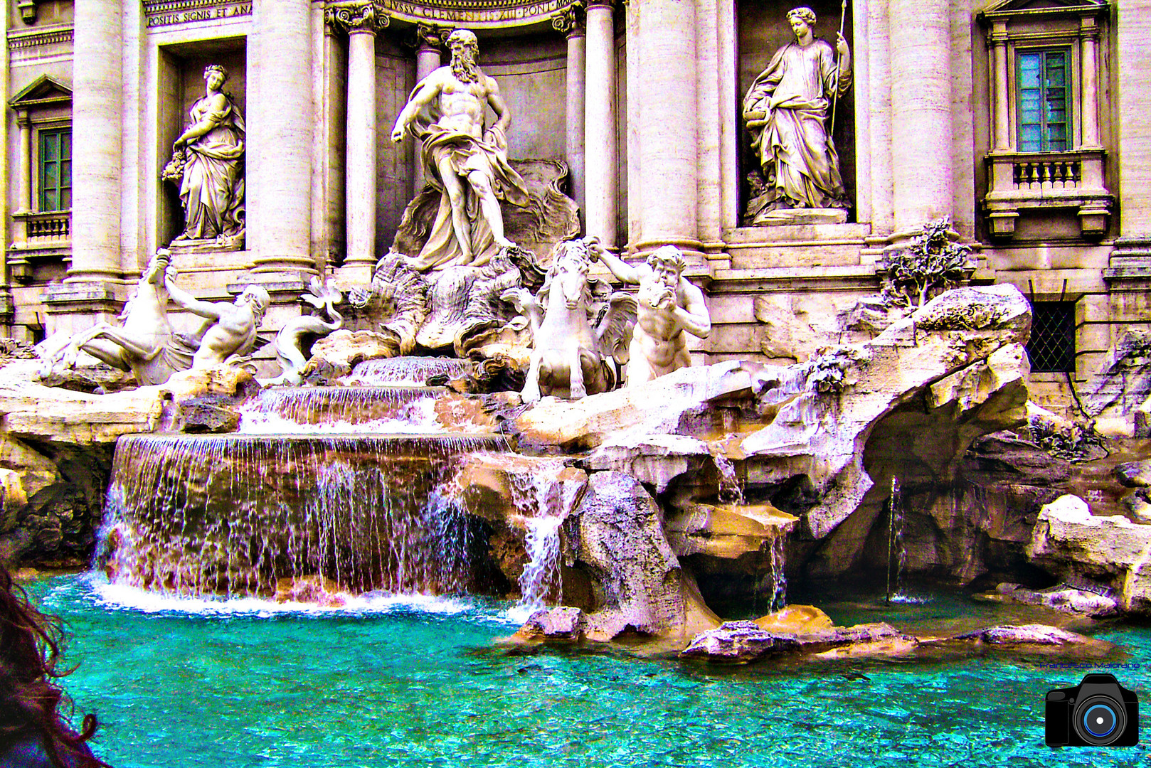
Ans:
<svg viewBox="0 0 1151 768"><path fill-rule="evenodd" d="M847 226L855 52L780 23L741 215ZM1031 304L946 219L833 343L693 359L726 326L692 249L588 231L566 167L509 159L477 35L442 43L379 115L424 185L361 279L295 317L188 287L252 236L212 63L162 158L183 225L119 319L6 348L0 547L69 625L102 759L1046 765L1047 690L1145 691L1145 368L1081 418L1031 402Z"/></svg>

